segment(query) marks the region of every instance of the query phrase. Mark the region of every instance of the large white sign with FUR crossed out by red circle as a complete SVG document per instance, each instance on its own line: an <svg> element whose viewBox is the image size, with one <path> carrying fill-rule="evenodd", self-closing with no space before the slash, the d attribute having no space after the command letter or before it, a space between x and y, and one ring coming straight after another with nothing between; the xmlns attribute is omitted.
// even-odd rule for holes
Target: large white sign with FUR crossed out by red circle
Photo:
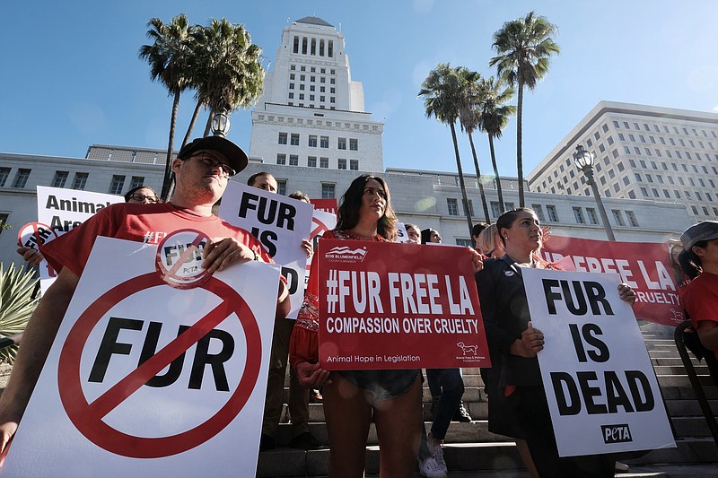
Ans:
<svg viewBox="0 0 718 478"><path fill-rule="evenodd" d="M96 240L3 476L254 476L278 268L182 290L157 250Z"/></svg>

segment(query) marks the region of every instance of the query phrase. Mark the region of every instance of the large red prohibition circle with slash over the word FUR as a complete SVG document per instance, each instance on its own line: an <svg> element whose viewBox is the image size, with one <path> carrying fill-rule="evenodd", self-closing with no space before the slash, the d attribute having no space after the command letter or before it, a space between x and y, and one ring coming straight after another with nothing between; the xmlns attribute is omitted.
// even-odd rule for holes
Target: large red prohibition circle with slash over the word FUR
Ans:
<svg viewBox="0 0 718 478"><path fill-rule="evenodd" d="M60 352L57 382L60 399L67 416L77 430L92 443L116 455L133 458L159 458L177 455L201 445L222 431L241 412L250 398L259 376L262 344L257 319L237 291L212 277L199 287L214 293L223 301L205 317L197 320L194 326L189 327L162 350L155 353L153 357L130 372L127 377L120 379L92 404L88 403L80 377L80 360L92 329L97 326L101 317L109 312L109 309L122 300L126 300L139 291L162 285L166 285L162 278L155 273L150 273L122 282L105 292L92 302L90 307L77 319L67 336L62 352ZM144 386L147 380L161 372L171 361L197 343L226 317L229 317L232 312L239 317L246 336L247 360L237 389L217 413L193 429L159 438L136 437L115 430L103 422L103 418L119 404L122 404L129 395Z"/></svg>

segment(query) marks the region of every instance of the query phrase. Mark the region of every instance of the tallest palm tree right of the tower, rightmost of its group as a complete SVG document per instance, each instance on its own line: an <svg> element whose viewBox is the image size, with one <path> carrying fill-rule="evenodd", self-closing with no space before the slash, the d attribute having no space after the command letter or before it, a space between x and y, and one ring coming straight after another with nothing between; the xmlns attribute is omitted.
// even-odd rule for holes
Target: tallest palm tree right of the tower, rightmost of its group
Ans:
<svg viewBox="0 0 718 478"><path fill-rule="evenodd" d="M521 157L521 116L523 110L523 88L536 88L548 71L549 56L558 54L559 48L552 36L556 25L546 17L530 12L524 18L503 23L503 28L494 33L493 47L498 56L489 61L496 66L499 76L511 86L518 84L518 124L516 128L516 169L519 176L519 205L523 198L523 159Z"/></svg>

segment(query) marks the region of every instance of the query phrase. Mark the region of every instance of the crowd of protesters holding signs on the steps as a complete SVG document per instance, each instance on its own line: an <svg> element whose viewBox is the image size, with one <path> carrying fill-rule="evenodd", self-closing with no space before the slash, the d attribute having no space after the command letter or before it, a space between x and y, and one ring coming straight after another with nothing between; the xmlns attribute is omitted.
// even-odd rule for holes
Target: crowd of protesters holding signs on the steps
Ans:
<svg viewBox="0 0 718 478"><path fill-rule="evenodd" d="M162 204L150 187L136 187L127 192L127 203L144 204L153 211L175 213L191 211L215 218L211 206L222 196L229 178L247 164L246 154L227 140L196 140L183 148L172 163L177 175L177 190L170 203ZM196 161L192 161L196 160ZM200 170L201 169L201 170ZM200 185L206 171L216 177L213 185ZM213 176L214 177L214 176ZM276 193L276 179L267 172L255 174L247 184ZM204 186L203 186L204 185ZM301 192L295 199L309 202ZM119 210L126 222L141 216L145 209ZM146 209L149 211L149 209ZM98 215L107 215L105 212ZM214 219L213 219L214 220ZM217 221L218 218L217 218ZM48 291L26 332L16 372L0 399L2 448L12 439L24 406L39 375L39 366L47 355L62 314L74 293L83 259L63 252L73 248L74 241L102 233L124 239L141 240L133 231L77 228L65 239L43 252L49 255L60 272L60 285ZM181 221L167 227L180 227ZM242 260L266 260L266 251L247 231L222 223L226 240L206 248L206 266L222 269ZM421 230L406 223L407 243L441 243L437 230ZM216 235L216 234L215 234ZM355 178L348 187L337 211L337 227L324 233L326 239L393 242L398 236L398 218L391 205L390 187L374 175ZM482 369L489 397L488 428L516 440L521 458L531 476L613 476L615 457L609 455L558 455L547 395L538 369L537 355L543 350L544 335L532 326L528 299L521 271L525 268L557 269L539 256L547 238L538 217L531 209L519 208L503 213L494 224L478 223L472 230L475 248L468 248L476 271L477 293L492 362ZM311 242L304 239L302 248L312 256ZM84 239L88 240L88 239ZM675 250L675 254L673 254ZM30 248L18 253L31 264L39 264L43 255ZM427 253L431 253L431 249ZM688 228L671 249L680 282L685 287L682 300L693 320L700 340L718 357L718 222L700 222ZM424 476L446 476L442 442L452 421L470 422L462 402L464 383L460 369L426 369L425 376L432 395L432 423L425 430L422 405L424 375L419 369L328 370L319 365L321 301L317 274L317 256L311 262L310 279L302 308L296 320L286 318L288 300L280 283L277 313L270 351L267 395L259 450L276 448L287 361L291 363L289 412L293 435L290 445L313 449L324 444L311 435L309 422L310 390L323 403L327 422L330 475L363 476L366 443L370 424L376 425L380 448L382 477L409 477L418 466ZM63 267L65 265L65 267ZM677 273L678 274L678 273ZM618 287L622 300L633 304L635 293L625 284ZM48 309L53 308L53 309ZM57 309L57 310L56 310ZM52 312L52 313L50 313ZM45 328L39 328L39 327ZM51 334L48 334L48 330ZM29 338L28 338L29 337ZM550 345L549 345L550 346ZM39 363L39 365L38 365Z"/></svg>

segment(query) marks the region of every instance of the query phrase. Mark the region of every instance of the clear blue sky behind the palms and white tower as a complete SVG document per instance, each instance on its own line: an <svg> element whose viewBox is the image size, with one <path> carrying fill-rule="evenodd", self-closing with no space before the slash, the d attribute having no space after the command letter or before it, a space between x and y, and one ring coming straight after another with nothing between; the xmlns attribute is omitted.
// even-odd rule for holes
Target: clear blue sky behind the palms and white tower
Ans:
<svg viewBox="0 0 718 478"><path fill-rule="evenodd" d="M495 74L493 33L530 10L556 24L561 54L524 97L527 174L600 100L718 114L713 0L14 1L0 6L0 151L84 157L92 143L165 148L171 98L137 56L151 17L243 23L267 65L287 22L316 15L345 36L366 109L385 123L385 167L455 171L449 128L425 117L416 93L439 62ZM179 141L193 107L183 96ZM250 127L249 112L235 112L230 139L249 149ZM486 136L475 143L488 172ZM460 152L473 172L465 136ZM499 172L515 175L515 117L496 154Z"/></svg>

